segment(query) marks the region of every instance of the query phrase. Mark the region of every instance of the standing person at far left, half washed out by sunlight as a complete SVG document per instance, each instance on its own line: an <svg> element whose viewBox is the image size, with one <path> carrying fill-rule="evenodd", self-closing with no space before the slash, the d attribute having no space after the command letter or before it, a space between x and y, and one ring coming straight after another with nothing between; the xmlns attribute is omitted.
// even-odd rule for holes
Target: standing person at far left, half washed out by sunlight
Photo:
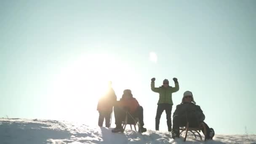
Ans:
<svg viewBox="0 0 256 144"><path fill-rule="evenodd" d="M107 128L110 127L110 118L113 111L113 106L117 101L117 96L112 88L112 82L109 82L109 88L107 93L99 99L97 110L99 111L98 125L102 127L105 119L105 125Z"/></svg>

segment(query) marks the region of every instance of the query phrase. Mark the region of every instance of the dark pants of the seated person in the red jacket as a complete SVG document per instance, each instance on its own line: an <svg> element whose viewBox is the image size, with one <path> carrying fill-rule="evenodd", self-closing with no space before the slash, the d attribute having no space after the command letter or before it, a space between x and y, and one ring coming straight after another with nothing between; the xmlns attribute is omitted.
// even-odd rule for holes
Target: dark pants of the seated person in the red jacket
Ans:
<svg viewBox="0 0 256 144"><path fill-rule="evenodd" d="M114 107L114 113L115 113L115 124L117 125L117 127L122 127L122 122L125 121L125 116L126 116L126 112L120 108L120 107ZM141 127L144 125L143 122L143 107L139 106L135 112L130 113L133 118L138 117L139 118L139 122L141 124ZM133 119L130 117L130 115L128 115L128 123L134 123Z"/></svg>

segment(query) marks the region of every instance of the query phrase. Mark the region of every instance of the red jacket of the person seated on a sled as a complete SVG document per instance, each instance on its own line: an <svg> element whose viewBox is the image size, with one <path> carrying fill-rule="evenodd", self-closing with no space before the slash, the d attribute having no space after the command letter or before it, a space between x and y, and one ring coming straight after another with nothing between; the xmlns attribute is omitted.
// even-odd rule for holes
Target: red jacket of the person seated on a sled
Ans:
<svg viewBox="0 0 256 144"><path fill-rule="evenodd" d="M131 97L131 98L122 98L117 102L118 106L121 108L127 107L131 113L135 112L139 107L139 102Z"/></svg>

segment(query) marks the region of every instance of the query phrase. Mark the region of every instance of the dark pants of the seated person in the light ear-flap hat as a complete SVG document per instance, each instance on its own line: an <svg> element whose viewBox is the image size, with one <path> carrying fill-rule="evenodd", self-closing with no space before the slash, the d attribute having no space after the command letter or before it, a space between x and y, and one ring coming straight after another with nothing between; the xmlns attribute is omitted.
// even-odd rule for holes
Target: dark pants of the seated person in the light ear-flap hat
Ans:
<svg viewBox="0 0 256 144"><path fill-rule="evenodd" d="M197 121L196 117L187 117L186 116L179 116L176 115L175 117L173 117L173 131L179 131L179 127L184 127L187 125L187 122L189 122L189 128L198 128L199 127L199 122ZM209 132L210 132L210 128L209 126L203 122L205 124L205 128L206 128L206 139L209 139ZM204 131L203 128L201 129L201 131Z"/></svg>

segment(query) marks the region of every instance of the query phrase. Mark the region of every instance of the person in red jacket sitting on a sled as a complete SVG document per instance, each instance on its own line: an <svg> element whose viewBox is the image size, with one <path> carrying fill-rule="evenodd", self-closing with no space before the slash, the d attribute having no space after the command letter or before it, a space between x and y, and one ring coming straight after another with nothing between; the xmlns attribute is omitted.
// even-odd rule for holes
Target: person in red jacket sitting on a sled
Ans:
<svg viewBox="0 0 256 144"><path fill-rule="evenodd" d="M117 101L114 106L116 128L112 129L113 133L124 131L122 122L125 120L126 112L129 112L133 118L139 118L142 133L147 131L147 129L143 127L143 108L139 105L138 101L133 98L131 90L127 89L123 91L122 98L120 101Z"/></svg>

